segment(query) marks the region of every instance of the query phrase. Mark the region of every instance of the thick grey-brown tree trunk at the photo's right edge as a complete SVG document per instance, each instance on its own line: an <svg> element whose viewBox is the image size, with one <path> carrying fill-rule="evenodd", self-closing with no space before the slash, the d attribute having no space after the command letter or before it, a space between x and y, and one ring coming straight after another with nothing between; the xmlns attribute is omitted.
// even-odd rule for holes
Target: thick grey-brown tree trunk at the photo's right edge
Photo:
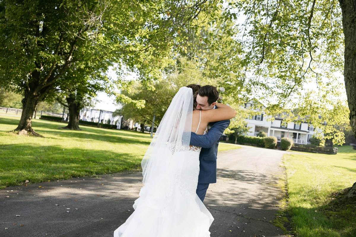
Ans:
<svg viewBox="0 0 356 237"><path fill-rule="evenodd" d="M344 80L350 109L350 124L356 138L356 1L339 0L345 36ZM356 193L356 185L350 193Z"/></svg>

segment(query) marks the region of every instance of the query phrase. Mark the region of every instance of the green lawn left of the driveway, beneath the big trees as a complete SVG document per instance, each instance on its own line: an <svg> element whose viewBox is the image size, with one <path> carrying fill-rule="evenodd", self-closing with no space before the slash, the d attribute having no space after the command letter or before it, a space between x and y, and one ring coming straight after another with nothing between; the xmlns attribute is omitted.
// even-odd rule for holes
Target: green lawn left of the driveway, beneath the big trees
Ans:
<svg viewBox="0 0 356 237"><path fill-rule="evenodd" d="M7 133L19 117L0 115L0 189L30 183L97 176L141 169L150 134L80 126L82 131L59 129L64 123L35 119L32 126L45 136ZM219 151L239 146L220 144Z"/></svg>

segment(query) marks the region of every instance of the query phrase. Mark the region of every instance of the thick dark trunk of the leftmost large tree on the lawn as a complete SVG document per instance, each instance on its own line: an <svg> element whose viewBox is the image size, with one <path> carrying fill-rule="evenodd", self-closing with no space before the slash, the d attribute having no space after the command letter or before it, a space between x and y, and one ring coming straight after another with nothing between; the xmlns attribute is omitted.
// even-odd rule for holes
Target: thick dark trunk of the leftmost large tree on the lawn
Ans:
<svg viewBox="0 0 356 237"><path fill-rule="evenodd" d="M32 129L32 116L33 112L36 110L37 103L39 102L38 97L33 96L30 92L25 92L25 98L22 99L22 114L19 125L14 131L17 134L32 134L35 136L40 136Z"/></svg>

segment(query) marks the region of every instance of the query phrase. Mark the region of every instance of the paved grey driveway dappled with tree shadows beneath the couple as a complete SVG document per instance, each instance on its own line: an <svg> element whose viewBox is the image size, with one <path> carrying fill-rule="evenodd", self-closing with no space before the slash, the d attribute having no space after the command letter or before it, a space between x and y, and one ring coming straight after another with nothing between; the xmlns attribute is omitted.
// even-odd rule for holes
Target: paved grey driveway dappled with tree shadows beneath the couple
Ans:
<svg viewBox="0 0 356 237"><path fill-rule="evenodd" d="M215 219L211 237L283 236L269 222L279 209L283 153L243 146L218 154L218 181L204 200ZM112 237L141 187L141 172L122 172L0 190L0 236Z"/></svg>

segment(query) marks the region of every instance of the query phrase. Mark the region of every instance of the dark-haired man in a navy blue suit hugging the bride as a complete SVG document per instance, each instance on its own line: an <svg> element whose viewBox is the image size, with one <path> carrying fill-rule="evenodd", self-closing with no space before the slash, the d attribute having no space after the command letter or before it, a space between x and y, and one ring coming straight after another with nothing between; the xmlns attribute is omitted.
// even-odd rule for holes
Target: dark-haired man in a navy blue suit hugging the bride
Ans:
<svg viewBox="0 0 356 237"><path fill-rule="evenodd" d="M196 99L197 109L215 109L218 98L219 92L215 86L200 87ZM197 187L197 195L201 201L204 201L209 184L216 183L216 159L218 158L219 141L229 124L230 120L209 123L210 130L207 134L198 135L192 132L190 135L190 145L201 147Z"/></svg>

